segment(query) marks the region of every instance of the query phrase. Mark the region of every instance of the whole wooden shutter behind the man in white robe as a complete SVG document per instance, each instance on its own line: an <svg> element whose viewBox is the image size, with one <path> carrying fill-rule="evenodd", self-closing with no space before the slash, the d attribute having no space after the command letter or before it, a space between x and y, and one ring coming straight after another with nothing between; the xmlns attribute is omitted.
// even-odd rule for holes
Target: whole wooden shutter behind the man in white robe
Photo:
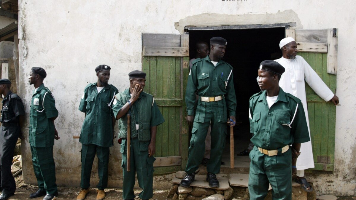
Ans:
<svg viewBox="0 0 356 200"><path fill-rule="evenodd" d="M286 30L286 37L295 38L298 55L315 70L324 83L336 93L337 29ZM321 99L305 83L307 94L310 137L315 168L334 171L336 107Z"/></svg>

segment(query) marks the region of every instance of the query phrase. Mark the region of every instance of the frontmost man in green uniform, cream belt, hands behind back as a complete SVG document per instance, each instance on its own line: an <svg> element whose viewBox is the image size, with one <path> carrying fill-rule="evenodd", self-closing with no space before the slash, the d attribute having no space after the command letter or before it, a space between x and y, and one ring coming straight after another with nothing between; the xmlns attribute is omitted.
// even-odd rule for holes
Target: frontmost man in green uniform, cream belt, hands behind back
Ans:
<svg viewBox="0 0 356 200"><path fill-rule="evenodd" d="M264 91L250 98L250 131L254 134L251 142L255 144L250 152L251 200L265 199L268 184L272 186L272 199L292 199L292 169L296 170L300 144L309 141L301 101L278 85L283 72L276 61L263 61L258 69L258 84Z"/></svg>

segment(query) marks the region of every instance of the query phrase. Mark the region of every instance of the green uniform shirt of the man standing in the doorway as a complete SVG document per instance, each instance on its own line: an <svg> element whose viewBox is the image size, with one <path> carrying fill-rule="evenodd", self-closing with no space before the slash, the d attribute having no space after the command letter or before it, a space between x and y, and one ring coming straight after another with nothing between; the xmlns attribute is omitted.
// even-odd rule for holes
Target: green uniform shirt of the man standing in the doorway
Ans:
<svg viewBox="0 0 356 200"><path fill-rule="evenodd" d="M230 116L236 115L236 95L234 81L232 81L232 69L230 64L221 59L216 66L214 66L214 64L211 63L209 56L206 56L203 59L197 58L193 61L185 93L188 115L195 114L194 108L197 100L195 93L198 96L204 97L225 95L227 110L229 111ZM227 80L229 75L230 78Z"/></svg>

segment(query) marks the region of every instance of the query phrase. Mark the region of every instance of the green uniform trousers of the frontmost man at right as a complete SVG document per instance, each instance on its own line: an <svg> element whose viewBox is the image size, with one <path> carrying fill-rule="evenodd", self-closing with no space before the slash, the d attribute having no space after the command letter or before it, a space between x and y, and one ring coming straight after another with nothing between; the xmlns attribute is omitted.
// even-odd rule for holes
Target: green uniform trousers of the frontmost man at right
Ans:
<svg viewBox="0 0 356 200"><path fill-rule="evenodd" d="M251 200L263 200L268 192L268 183L272 186L273 200L292 199L292 154L287 152L268 156L255 146L250 152L250 177L248 191Z"/></svg>

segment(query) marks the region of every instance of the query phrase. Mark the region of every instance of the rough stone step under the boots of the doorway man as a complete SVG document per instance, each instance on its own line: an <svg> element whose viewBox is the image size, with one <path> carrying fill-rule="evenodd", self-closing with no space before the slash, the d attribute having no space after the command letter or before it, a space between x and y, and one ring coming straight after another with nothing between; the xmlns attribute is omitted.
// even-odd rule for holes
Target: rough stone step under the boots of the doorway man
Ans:
<svg viewBox="0 0 356 200"><path fill-rule="evenodd" d="M195 181L188 188L184 188L179 185L181 179L187 173L183 171L176 172L176 178L172 180L173 185L169 190L167 198L172 198L172 200L184 200L184 199L204 199L204 200L224 200L230 199L234 190L230 188L229 178L224 177L224 175L217 176L220 187L210 188L208 183L205 181L205 175L195 175Z"/></svg>

